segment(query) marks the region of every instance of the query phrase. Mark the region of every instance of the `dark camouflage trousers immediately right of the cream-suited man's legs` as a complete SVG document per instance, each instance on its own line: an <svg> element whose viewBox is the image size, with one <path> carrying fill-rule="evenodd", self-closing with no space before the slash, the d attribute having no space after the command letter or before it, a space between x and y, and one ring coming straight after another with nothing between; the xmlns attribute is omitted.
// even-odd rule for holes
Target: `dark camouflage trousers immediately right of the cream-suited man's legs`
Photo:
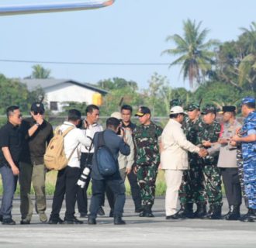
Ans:
<svg viewBox="0 0 256 248"><path fill-rule="evenodd" d="M183 171L182 185L178 191L181 205L186 203L206 204L202 167L198 160L190 160L189 164L190 170Z"/></svg>

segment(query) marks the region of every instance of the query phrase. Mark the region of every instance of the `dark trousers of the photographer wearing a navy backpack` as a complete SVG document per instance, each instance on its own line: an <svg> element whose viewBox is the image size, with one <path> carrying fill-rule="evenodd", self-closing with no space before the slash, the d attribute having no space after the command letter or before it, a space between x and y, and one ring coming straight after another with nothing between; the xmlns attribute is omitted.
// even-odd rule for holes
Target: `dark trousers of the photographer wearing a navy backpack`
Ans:
<svg viewBox="0 0 256 248"><path fill-rule="evenodd" d="M114 205L114 216L123 215L123 207L126 200L123 179L121 177L119 177L119 179L92 179L92 199L90 205L90 216L92 218L97 217L97 212L99 210L99 207L102 205L102 198L104 198L104 194L106 191L106 185L108 185L108 187L115 194L116 202Z"/></svg>

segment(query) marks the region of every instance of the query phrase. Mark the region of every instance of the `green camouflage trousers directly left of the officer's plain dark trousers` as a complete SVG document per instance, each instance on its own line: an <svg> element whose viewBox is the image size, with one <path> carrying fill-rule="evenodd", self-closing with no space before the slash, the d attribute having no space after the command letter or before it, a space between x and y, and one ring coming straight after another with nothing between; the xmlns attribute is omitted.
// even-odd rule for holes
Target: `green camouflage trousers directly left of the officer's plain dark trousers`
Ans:
<svg viewBox="0 0 256 248"><path fill-rule="evenodd" d="M222 205L220 168L215 165L203 165L205 196L209 205Z"/></svg>

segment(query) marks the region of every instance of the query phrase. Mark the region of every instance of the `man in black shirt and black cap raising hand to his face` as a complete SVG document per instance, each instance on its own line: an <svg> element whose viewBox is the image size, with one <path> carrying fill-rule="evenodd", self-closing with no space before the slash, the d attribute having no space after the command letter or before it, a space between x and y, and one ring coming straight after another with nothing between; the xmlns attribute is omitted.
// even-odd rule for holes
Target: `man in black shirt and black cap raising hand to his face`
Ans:
<svg viewBox="0 0 256 248"><path fill-rule="evenodd" d="M33 202L30 198L31 182L36 195L36 212L41 222L47 222L45 195L46 169L43 155L47 144L53 137L53 127L43 119L44 107L40 102L31 105L31 117L24 119L20 129L25 136L20 157L20 212L21 224L29 224L33 214Z"/></svg>

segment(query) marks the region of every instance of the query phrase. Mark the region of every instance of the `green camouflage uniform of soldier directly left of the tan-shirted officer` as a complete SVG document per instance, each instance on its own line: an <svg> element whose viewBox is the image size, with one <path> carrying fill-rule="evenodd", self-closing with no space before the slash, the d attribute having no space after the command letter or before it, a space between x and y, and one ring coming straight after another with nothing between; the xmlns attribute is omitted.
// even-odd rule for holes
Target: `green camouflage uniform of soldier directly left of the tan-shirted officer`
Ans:
<svg viewBox="0 0 256 248"><path fill-rule="evenodd" d="M220 123L216 120L212 124L204 124L199 133L199 143L209 140L211 143L218 141L220 136ZM207 148L207 147L206 147ZM222 205L220 168L217 167L218 153L213 157L201 158L202 174L204 176L205 197L208 199L210 208Z"/></svg>

